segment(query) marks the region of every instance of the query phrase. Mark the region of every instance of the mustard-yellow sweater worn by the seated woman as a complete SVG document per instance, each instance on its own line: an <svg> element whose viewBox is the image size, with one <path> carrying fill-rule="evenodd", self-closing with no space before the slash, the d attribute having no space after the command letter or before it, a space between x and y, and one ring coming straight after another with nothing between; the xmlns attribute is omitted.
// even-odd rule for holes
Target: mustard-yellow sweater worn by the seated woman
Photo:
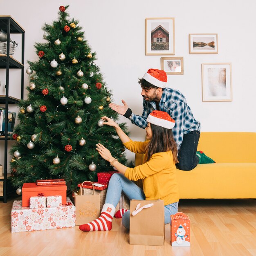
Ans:
<svg viewBox="0 0 256 256"><path fill-rule="evenodd" d="M128 141L124 146L133 153L145 154L148 141ZM142 180L146 200L164 200L164 205L179 201L176 167L171 151L152 155L146 162L135 168L127 168L125 177L129 180Z"/></svg>

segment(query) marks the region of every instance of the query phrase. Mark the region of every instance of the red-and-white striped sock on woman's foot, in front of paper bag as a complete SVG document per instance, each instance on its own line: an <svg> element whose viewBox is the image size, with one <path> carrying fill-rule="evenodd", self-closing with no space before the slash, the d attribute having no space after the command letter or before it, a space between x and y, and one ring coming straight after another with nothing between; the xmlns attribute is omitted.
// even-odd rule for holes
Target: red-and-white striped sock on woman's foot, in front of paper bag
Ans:
<svg viewBox="0 0 256 256"><path fill-rule="evenodd" d="M101 215L96 220L79 226L82 231L108 231L112 229L112 219L115 214L113 204L104 204Z"/></svg>

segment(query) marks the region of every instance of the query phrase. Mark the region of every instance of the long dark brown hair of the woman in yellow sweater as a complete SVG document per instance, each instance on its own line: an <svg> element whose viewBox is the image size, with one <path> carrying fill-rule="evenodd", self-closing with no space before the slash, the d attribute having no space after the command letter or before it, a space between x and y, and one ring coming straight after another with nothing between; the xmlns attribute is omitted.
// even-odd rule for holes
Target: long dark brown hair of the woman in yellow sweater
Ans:
<svg viewBox="0 0 256 256"><path fill-rule="evenodd" d="M164 128L150 124L152 130L152 139L147 144L146 161L152 157L153 154L159 152L172 151L174 163L178 163L177 144L173 138L173 131L171 129Z"/></svg>

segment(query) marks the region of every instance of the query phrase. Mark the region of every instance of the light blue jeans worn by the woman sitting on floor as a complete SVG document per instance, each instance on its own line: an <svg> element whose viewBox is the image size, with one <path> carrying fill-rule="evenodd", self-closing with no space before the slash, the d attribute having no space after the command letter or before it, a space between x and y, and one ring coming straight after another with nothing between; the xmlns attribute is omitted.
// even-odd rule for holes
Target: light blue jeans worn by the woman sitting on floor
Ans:
<svg viewBox="0 0 256 256"><path fill-rule="evenodd" d="M139 186L131 180L128 180L121 173L114 173L108 184L105 203L113 204L116 207L120 200L122 191L130 200L146 199L143 190ZM177 213L178 204L179 202L175 202L164 206L164 224L170 223L170 215ZM124 213L124 216L122 217L122 224L127 229L130 228L130 211L126 211L126 213Z"/></svg>

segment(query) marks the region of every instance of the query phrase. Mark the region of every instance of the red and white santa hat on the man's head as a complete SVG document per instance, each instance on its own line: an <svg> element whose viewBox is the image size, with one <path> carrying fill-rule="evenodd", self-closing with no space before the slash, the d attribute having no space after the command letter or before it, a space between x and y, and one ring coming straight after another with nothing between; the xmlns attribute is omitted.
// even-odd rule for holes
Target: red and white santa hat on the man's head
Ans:
<svg viewBox="0 0 256 256"><path fill-rule="evenodd" d="M157 70L155 68L150 68L142 78L148 81L148 83L161 88L165 88L167 82L166 72L164 70Z"/></svg>

